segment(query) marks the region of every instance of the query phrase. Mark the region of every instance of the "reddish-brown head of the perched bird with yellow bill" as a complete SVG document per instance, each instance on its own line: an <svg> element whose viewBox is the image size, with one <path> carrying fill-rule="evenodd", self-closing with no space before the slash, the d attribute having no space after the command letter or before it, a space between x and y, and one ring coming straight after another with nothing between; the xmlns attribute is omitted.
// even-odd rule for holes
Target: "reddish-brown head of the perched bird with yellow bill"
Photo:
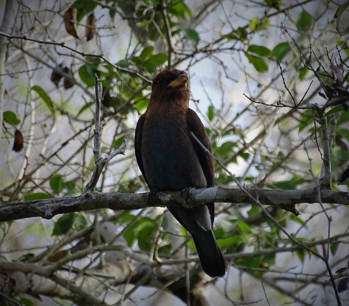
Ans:
<svg viewBox="0 0 349 306"><path fill-rule="evenodd" d="M151 84L150 101L189 107L188 74L179 69L160 72Z"/></svg>

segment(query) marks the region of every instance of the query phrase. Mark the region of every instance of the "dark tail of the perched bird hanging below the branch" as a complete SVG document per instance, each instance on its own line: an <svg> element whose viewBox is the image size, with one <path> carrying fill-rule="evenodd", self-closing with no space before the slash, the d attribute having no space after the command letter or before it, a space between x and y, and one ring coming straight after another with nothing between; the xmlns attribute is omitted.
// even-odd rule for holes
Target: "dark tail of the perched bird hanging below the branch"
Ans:
<svg viewBox="0 0 349 306"><path fill-rule="evenodd" d="M192 234L192 237L203 271L211 277L223 276L228 270L228 264L217 244L213 231L201 233L199 237Z"/></svg>

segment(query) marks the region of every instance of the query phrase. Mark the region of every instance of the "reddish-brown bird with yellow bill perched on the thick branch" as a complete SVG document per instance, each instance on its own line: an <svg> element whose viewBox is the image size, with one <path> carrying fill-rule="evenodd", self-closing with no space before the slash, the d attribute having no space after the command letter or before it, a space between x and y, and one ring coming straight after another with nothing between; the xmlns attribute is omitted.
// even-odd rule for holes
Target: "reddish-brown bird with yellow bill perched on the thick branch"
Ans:
<svg viewBox="0 0 349 306"><path fill-rule="evenodd" d="M188 74L165 70L154 78L147 110L135 129L135 155L147 185L156 191L189 191L213 187L211 143L199 116L189 108ZM227 262L212 231L214 203L193 208L169 207L174 218L192 235L203 271L222 277Z"/></svg>

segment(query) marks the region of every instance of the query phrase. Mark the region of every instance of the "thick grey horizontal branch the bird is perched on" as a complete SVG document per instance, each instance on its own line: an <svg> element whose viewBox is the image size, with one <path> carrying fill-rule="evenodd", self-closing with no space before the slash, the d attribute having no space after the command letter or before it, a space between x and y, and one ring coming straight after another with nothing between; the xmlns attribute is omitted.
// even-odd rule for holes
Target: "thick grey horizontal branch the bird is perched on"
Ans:
<svg viewBox="0 0 349 306"><path fill-rule="evenodd" d="M248 193L258 196L262 205L273 205L299 214L296 207L300 203L317 203L316 189L303 190L268 190L248 188ZM322 189L321 199L323 203L349 205L349 193ZM99 193L90 192L80 196L65 196L56 199L34 200L27 202L7 203L0 206L0 222L17 220L30 217L42 217L51 219L58 214L83 210L105 209L130 210L152 207L148 204L148 193L126 194L119 192ZM190 195L190 206L195 204L216 203L241 203L255 204L241 189L210 187L195 189ZM185 197L180 191L158 192L154 196L157 206L188 206Z"/></svg>

